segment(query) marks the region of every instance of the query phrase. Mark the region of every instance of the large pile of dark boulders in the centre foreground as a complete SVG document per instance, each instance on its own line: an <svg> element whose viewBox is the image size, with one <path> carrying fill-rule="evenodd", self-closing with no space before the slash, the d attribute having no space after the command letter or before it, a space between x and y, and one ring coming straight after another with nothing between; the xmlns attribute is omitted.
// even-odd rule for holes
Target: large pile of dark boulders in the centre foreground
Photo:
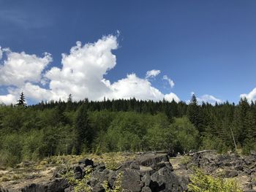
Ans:
<svg viewBox="0 0 256 192"><path fill-rule="evenodd" d="M186 191L189 182L186 178L178 177L173 173L173 166L170 164L167 154L146 153L139 155L135 160L125 162L116 170L106 169L105 164L84 159L72 168L74 178L82 179L88 169L91 169L92 172L87 184L93 192L104 192L103 183L107 183L108 188L115 188L120 173L122 175L120 177L121 188L127 192ZM52 181L40 185L31 184L20 191L74 191L73 186L61 177L65 172L67 169L61 169L53 175ZM0 189L0 192L7 191Z"/></svg>

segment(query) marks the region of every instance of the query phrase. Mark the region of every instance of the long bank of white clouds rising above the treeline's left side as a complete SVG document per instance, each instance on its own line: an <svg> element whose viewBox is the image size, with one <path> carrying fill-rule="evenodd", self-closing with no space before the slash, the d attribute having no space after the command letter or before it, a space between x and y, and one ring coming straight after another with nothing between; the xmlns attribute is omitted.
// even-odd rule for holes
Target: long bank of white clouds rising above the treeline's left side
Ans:
<svg viewBox="0 0 256 192"><path fill-rule="evenodd" d="M121 80L111 83L105 74L116 66L116 55L112 50L118 48L117 37L109 35L97 42L82 45L77 42L69 54L62 54L61 67L53 66L45 72L53 58L50 53L42 57L24 52L15 53L0 48L0 85L7 86L7 95L0 96L0 102L15 103L21 91L33 101L67 100L71 93L74 100L108 99L151 99L159 101L180 101L175 93L164 94L151 85L148 80L160 71L146 72L145 78L127 74ZM173 80L164 78L172 88Z"/></svg>

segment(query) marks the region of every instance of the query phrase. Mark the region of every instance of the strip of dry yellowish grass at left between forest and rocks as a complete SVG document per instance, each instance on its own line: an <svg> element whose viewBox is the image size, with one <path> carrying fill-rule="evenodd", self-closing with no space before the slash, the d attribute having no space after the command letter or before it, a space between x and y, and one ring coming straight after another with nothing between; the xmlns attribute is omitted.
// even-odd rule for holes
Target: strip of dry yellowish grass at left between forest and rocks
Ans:
<svg viewBox="0 0 256 192"><path fill-rule="evenodd" d="M72 166L78 164L78 161L89 158L94 162L104 163L109 169L116 169L124 161L135 158L133 153L105 153L102 155L86 154L86 155L59 155L45 158L39 162L25 162L18 164L16 168L5 168L0 171L1 185L12 185L15 183L23 183L23 181L45 179L52 177L54 170L59 166ZM42 177L42 178L40 178Z"/></svg>

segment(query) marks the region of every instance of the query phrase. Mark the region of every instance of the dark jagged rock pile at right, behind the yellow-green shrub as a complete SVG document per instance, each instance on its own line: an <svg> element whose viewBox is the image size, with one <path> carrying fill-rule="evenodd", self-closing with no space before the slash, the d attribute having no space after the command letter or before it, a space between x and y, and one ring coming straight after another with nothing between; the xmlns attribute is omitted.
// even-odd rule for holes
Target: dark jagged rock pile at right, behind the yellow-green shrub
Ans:
<svg viewBox="0 0 256 192"><path fill-rule="evenodd" d="M211 175L236 177L238 183L243 185L244 191L256 192L256 155L220 155L211 151L195 153L192 161L187 164L187 169L191 169L192 166L197 166Z"/></svg>

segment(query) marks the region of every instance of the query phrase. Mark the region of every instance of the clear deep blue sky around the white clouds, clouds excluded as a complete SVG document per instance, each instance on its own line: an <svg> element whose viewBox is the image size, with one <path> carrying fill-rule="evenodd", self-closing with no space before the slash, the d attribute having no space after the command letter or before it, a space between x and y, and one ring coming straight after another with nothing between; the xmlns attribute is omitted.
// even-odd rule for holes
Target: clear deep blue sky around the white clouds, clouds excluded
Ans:
<svg viewBox="0 0 256 192"><path fill-rule="evenodd" d="M161 73L148 82L163 95L171 92L187 101L195 92L199 99L214 96L237 102L246 93L244 96L255 99L255 9L256 1L233 0L0 0L0 46L10 48L0 64L4 66L10 53L24 51L43 58L47 52L53 61L42 69L44 76L53 66L61 69L61 53L69 54L77 41L85 45L113 35L118 48L110 50L116 55L116 65L104 75L110 84L132 73L144 80L147 71L157 69ZM5 69L0 68L6 75ZM163 75L173 80L172 88ZM24 83L29 82L18 85L6 81L0 77L3 101L7 94L14 99L20 90L26 91ZM33 85L50 89L49 82L33 81ZM33 97L29 91L27 95L30 102L47 99Z"/></svg>

